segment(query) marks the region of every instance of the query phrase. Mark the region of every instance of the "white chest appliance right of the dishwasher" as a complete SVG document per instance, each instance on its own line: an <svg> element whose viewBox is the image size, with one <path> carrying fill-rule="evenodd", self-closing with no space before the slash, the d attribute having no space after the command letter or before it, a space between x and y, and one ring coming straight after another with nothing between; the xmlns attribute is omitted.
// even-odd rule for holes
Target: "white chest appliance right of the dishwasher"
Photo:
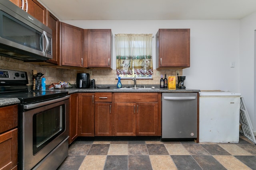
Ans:
<svg viewBox="0 0 256 170"><path fill-rule="evenodd" d="M199 142L238 143L240 93L199 92Z"/></svg>

